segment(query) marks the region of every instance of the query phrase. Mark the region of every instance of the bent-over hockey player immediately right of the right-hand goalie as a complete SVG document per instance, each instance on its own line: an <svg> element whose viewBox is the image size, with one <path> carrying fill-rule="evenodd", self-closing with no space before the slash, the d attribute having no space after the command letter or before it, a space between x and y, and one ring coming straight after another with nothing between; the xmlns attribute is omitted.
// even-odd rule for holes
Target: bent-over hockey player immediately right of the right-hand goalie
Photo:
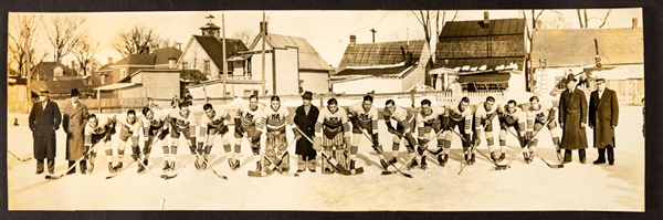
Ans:
<svg viewBox="0 0 663 220"><path fill-rule="evenodd" d="M352 123L352 146L350 151L357 151L361 143L361 129L370 130L370 139L372 147L380 158L380 165L387 169L389 164L385 158L382 145L378 134L378 109L372 105L373 97L370 95L364 96L364 101L354 104L349 107L348 116Z"/></svg>

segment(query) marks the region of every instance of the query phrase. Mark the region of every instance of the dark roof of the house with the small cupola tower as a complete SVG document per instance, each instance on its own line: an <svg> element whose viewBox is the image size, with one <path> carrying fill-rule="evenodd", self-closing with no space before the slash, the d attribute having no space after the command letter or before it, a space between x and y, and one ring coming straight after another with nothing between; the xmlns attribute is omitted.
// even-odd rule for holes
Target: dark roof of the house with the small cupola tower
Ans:
<svg viewBox="0 0 663 220"><path fill-rule="evenodd" d="M200 46L210 56L212 62L219 67L223 66L223 42L214 36L193 35ZM248 50L244 42L239 39L225 39L225 59L229 59L234 52Z"/></svg>

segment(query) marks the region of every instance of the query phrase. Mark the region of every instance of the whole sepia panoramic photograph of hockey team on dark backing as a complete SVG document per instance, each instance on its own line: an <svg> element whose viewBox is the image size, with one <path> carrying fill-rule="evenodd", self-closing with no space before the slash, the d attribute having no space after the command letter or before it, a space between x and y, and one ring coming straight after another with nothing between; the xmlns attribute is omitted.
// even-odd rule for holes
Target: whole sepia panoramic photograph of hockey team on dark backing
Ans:
<svg viewBox="0 0 663 220"><path fill-rule="evenodd" d="M642 8L7 18L9 211L645 211Z"/></svg>

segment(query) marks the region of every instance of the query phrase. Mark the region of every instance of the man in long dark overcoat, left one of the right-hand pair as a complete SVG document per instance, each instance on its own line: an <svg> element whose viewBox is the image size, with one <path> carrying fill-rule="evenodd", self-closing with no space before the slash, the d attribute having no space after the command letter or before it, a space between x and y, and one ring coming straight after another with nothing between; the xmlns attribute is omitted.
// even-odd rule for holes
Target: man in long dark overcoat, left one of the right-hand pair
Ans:
<svg viewBox="0 0 663 220"><path fill-rule="evenodd" d="M571 161L571 150L578 149L580 163L586 163L587 133L587 97L585 92L576 87L576 77L569 74L566 78L567 90L559 97L559 125L562 129L560 149L565 149L564 163Z"/></svg>

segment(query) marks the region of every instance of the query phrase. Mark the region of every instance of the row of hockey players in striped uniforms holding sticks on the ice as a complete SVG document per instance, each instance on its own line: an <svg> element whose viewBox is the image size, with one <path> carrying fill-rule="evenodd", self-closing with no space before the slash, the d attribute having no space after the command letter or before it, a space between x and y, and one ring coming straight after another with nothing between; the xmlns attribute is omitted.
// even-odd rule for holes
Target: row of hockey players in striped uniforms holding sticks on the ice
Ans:
<svg viewBox="0 0 663 220"><path fill-rule="evenodd" d="M474 165L477 155L491 163L494 166L493 170L508 169L519 156L523 156L526 164L533 163L535 157L538 157L550 168L564 168L559 148L561 137L555 122L557 107L544 107L537 96L532 96L526 105L520 104L523 108L518 107L516 101L509 99L505 104L498 104L492 96L474 107L470 106L467 97L435 106L430 99L424 98L418 103L417 108L402 107L393 99L388 99L381 118L378 118L378 109L370 95L364 96L361 102L348 106L347 109L338 106L338 101L334 97L326 101L327 105L320 107L314 135L311 136L295 125L293 122L295 114L281 106L278 96L272 96L269 106L262 106L256 96L251 96L233 115L223 107L204 104L199 121L193 117L187 102L179 103L168 113L144 107L140 117L130 109L126 113L126 117L122 117L124 119L118 119L117 115L91 114L85 125L85 146L88 150L74 166L81 160L87 160L90 165L82 172L91 174L95 168L97 151L103 150L108 161L106 179L125 172L134 163L137 164L138 175L149 172L162 179L178 177L191 163L197 170L209 170L221 179L228 179L225 175L210 166L215 161L209 160L214 140L220 138L221 146L217 147L223 148L223 153L219 153L217 159L225 155L232 171L240 169L242 161L239 155L242 148L251 150L255 161L255 168L248 170L251 177L267 177L276 172L291 175L288 150L292 151L293 144L297 142L312 145L317 153L317 158L304 161L302 168L299 156L298 169L292 176L298 177L306 168L311 172L316 172L318 163L324 175L352 176L364 174L364 167L357 167L356 159L361 139L365 139L377 155L373 159L379 161L381 175L401 175L412 178L408 171L429 169L429 159L436 161L439 167L445 167L451 160L449 154L452 139L457 136L462 142L463 154L463 159L459 160L461 164L459 175L462 175L467 166ZM387 134L381 135L392 136L391 151L388 148L389 143L379 142L379 122L385 123L388 130ZM497 142L495 142L493 123L498 123L499 126ZM286 139L286 133L290 132L286 128L292 130L293 139ZM549 130L559 164L550 164L536 153L538 139L543 138L539 137L539 132L544 128ZM119 132L119 142L114 146L112 138L117 132ZM520 150L507 158L508 135L516 137ZM144 142L139 142L140 136ZM185 151L190 153L191 160L177 161L180 138L186 143ZM264 146L261 146L262 138L266 140ZM433 138L436 139L436 146L429 145ZM250 146L242 146L243 139L249 140ZM482 139L486 142L487 154L477 148ZM495 146L496 143L498 146ZM397 157L401 144L408 155L406 163L398 165ZM158 146L161 146L164 153L161 174L148 169L150 153L159 149ZM124 165L125 149L130 150L131 157L126 166ZM117 161L115 165L114 159ZM67 174L74 166L69 167ZM45 176L46 179L62 177L64 174Z"/></svg>

